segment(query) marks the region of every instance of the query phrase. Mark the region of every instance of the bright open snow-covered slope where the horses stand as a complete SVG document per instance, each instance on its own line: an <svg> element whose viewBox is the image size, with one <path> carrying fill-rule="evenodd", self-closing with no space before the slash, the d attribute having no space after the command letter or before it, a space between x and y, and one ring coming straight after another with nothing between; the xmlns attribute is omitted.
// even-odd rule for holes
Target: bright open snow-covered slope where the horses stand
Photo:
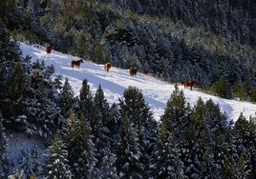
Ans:
<svg viewBox="0 0 256 179"><path fill-rule="evenodd" d="M160 81L142 73L138 73L136 77L132 77L128 70L121 70L115 67L112 67L110 72L107 73L103 70L103 65L96 65L89 61L85 61L81 64L79 70L72 69L70 63L72 60L77 60L78 57L63 54L54 50L50 56L48 56L45 48L38 45L29 46L20 43L20 48L23 51L24 56L27 54L32 56L32 61L38 59L39 61L44 60L46 65L53 64L56 75L61 74L63 80L68 77L69 82L75 91L75 95L79 95L82 80L84 79L88 80L93 92L96 92L96 89L100 84L104 90L104 95L110 104L118 102L118 98L122 97L124 90L129 86L141 89L144 99L152 109L156 120L160 119L160 115L163 114L166 107L166 102L174 90L173 84ZM186 101L189 102L190 105L195 105L199 97L201 97L203 101L211 98L226 112L228 119L233 119L233 121L238 119L241 112L244 113L247 119L250 115L255 116L256 114L255 104L223 99L203 93L197 89L183 89L182 86L179 86L179 88L184 91Z"/></svg>

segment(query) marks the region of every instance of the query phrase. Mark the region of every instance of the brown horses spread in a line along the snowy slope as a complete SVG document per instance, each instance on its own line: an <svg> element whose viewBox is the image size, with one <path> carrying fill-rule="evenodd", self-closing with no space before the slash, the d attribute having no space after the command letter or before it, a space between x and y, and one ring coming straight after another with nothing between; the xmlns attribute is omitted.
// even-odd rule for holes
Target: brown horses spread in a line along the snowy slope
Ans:
<svg viewBox="0 0 256 179"><path fill-rule="evenodd" d="M53 49L52 43L48 43L48 44L46 45L46 53L47 53L48 55L50 55L52 49ZM82 59L82 58L80 58L79 60L73 60L73 61L71 61L71 67L72 67L72 68L77 68L77 69L79 69L81 63L83 63L83 59ZM111 63L110 63L110 62L108 62L108 63L106 63L106 64L104 65L104 70L105 70L106 72L109 72L110 68L111 68ZM130 72L130 76L136 76L136 74L137 74L137 68L131 68L131 69L129 70L129 72ZM184 80L181 84L184 86L184 89L190 88L190 89L192 90L192 88L193 88L195 85L197 85L197 82L196 82L196 81Z"/></svg>

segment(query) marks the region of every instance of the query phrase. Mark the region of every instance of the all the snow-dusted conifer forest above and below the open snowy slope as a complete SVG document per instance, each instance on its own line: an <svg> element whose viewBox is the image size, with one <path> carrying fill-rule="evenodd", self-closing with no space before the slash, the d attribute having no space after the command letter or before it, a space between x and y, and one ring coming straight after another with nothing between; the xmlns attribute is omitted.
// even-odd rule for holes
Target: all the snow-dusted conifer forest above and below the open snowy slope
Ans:
<svg viewBox="0 0 256 179"><path fill-rule="evenodd" d="M1 0L0 178L256 178L256 115L228 121L176 87L157 121L141 89L110 104L84 79L76 96L18 42L256 103L255 0ZM45 148L17 151L18 168L8 157L15 132Z"/></svg>

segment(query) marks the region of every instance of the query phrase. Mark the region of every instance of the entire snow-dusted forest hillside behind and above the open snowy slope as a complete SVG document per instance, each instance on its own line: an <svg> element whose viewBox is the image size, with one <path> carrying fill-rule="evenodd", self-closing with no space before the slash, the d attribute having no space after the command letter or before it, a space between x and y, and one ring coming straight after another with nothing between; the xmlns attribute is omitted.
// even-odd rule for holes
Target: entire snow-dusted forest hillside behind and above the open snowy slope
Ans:
<svg viewBox="0 0 256 179"><path fill-rule="evenodd" d="M171 82L196 80L203 89L224 77L231 97L241 98L234 90L242 84L245 100L255 95L252 1L4 2L3 19L16 39L52 41L55 50L137 66Z"/></svg>

